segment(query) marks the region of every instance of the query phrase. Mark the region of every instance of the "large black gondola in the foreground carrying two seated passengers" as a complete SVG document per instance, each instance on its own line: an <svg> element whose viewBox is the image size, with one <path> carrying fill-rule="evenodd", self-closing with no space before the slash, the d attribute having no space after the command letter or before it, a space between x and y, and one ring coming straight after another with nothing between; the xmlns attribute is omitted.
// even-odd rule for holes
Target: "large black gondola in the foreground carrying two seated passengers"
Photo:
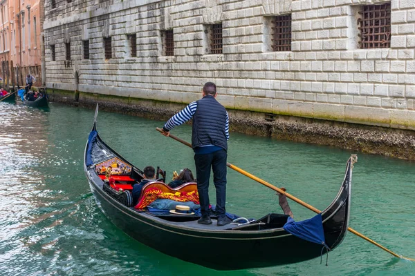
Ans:
<svg viewBox="0 0 415 276"><path fill-rule="evenodd" d="M84 172L102 212L138 242L172 257L216 270L293 264L326 253L322 244L308 242L284 230L288 215L267 214L261 219L239 225L216 226L214 223L204 226L196 223L199 219L196 215L158 214L129 206L131 201L128 196L121 197L120 192L103 180L100 164L116 160L124 168L131 168L127 170L127 175L117 176L120 186L124 187L139 182L143 177L142 171L105 144L97 132L97 115L98 106L84 152ZM327 250L336 248L347 233L353 168L351 159L347 161L338 195L320 214ZM147 186L166 185L161 181L150 182L143 187L142 193ZM183 191L190 186L196 184L183 184L176 190ZM129 192L122 194L128 195Z"/></svg>

